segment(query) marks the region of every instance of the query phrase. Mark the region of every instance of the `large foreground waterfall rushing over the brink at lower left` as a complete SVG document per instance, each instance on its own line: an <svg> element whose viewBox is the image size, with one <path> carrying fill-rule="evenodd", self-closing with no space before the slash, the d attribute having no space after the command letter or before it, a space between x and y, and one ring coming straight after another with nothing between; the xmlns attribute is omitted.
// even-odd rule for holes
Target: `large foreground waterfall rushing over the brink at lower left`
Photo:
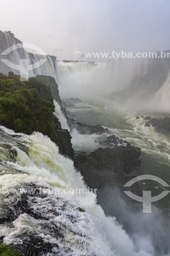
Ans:
<svg viewBox="0 0 170 256"><path fill-rule="evenodd" d="M30 236L36 237L52 245L50 255L59 252L65 256L70 253L74 256L86 253L97 256L137 255L125 231L114 218L104 215L96 204L95 195L87 193L74 163L59 154L55 143L39 133L12 137L1 132L1 144L4 137L17 152L13 160L8 157L6 146L0 150L1 154L6 152L1 163L0 188L9 193L1 194L1 217L8 219L11 210L15 216L10 226L6 221L0 230L5 241L24 246ZM34 189L40 191L40 188L46 189L46 196L30 194ZM77 188L83 189L84 193L75 193ZM64 189L71 189L71 192L65 195ZM27 197L29 203L29 208L26 207L23 213L18 209L23 197L21 190L25 191L24 198ZM51 193L54 190L57 194ZM85 212L79 211L79 207Z"/></svg>

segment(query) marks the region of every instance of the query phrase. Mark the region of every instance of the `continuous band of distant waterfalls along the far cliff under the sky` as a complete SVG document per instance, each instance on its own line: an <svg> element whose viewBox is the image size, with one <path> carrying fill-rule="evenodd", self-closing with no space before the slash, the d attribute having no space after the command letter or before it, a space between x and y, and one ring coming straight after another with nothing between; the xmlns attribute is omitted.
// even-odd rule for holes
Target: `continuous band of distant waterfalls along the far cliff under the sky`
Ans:
<svg viewBox="0 0 170 256"><path fill-rule="evenodd" d="M103 62L57 61L55 56L28 53L22 42L11 32L0 31L0 53L17 44L20 44L21 48L10 52L7 55L8 60L14 65L19 65L21 59L28 59L29 65L45 61L40 67L30 70L29 77L53 76L58 82L61 98L95 99L121 91L129 84L132 85L133 95L133 88L136 89L137 83L131 82L136 75L139 75L139 93L147 96L162 87L170 68L169 58L120 58ZM162 67L163 71L160 72ZM19 74L18 70L5 65L1 56L0 73L8 74L9 71Z"/></svg>

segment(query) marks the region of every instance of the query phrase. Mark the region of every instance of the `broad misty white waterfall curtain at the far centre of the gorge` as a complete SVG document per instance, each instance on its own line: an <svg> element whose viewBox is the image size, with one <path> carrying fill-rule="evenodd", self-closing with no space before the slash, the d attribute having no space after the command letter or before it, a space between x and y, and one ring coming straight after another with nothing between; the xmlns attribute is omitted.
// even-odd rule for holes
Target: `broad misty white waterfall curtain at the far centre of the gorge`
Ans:
<svg viewBox="0 0 170 256"><path fill-rule="evenodd" d="M125 88L134 75L144 75L147 71L148 59L57 62L58 85L62 98L94 99Z"/></svg>

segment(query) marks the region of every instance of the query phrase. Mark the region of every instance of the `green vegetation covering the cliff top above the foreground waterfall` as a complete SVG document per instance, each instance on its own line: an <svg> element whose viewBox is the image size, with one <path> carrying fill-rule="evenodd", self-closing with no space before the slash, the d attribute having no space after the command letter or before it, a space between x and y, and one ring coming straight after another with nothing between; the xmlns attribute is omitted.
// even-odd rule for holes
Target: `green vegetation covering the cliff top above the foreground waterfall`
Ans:
<svg viewBox="0 0 170 256"><path fill-rule="evenodd" d="M35 78L28 82L20 81L18 76L0 78L2 125L26 134L38 131L57 142L60 126L54 109L50 88Z"/></svg>

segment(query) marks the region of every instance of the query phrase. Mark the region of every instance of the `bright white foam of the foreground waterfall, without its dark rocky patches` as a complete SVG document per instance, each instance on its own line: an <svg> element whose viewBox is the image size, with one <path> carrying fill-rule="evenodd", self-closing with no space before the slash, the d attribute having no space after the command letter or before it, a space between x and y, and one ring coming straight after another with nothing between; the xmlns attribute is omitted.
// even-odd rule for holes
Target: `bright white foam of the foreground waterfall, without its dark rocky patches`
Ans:
<svg viewBox="0 0 170 256"><path fill-rule="evenodd" d="M59 197L61 202L62 200L67 200L72 205L83 207L86 210L85 213L79 213L79 216L75 213L75 218L79 220L75 225L72 225L66 217L70 212L74 215L74 210L69 208L69 204L68 212L60 211L60 215L56 216L53 221L59 222L61 226L66 224L66 228L64 229L64 239L55 241L56 243L59 242L62 246L69 246L74 251L73 255L75 256L81 253L94 253L98 256L147 255L143 254L142 251L139 254L134 251L133 243L125 231L116 224L114 218L106 218L102 208L96 205L94 194L62 194L64 188L83 188L84 191L87 191L87 188L81 175L74 169L73 162L60 155L58 147L49 138L42 134L34 133L31 136L23 136L22 143L23 140L26 141L24 144L27 145L28 154L14 146L17 151L16 162L4 162L5 166L14 168L21 173L4 174L0 177L0 186L10 189L21 184L26 185L34 182L37 185L59 188L60 193L57 196L52 195L50 197L53 203ZM47 202L45 200L40 202L40 204L42 203L42 210L46 207L50 210L53 207L49 202L46 205ZM38 210L39 207L36 205L35 209ZM46 216L49 215L48 210L45 212ZM0 233L6 236L5 241L17 243L16 237L19 233L22 233L23 229L29 230L31 228L39 234L41 233L44 241L50 241L52 237L46 234L45 230L43 232L41 224L41 221L33 219L27 214L21 214L10 228L6 225L1 225ZM72 235L67 234L69 230L72 230ZM78 237L74 235L74 232L83 233L84 237ZM82 239L84 240L83 243L79 241ZM54 240L53 238L53 242Z"/></svg>

